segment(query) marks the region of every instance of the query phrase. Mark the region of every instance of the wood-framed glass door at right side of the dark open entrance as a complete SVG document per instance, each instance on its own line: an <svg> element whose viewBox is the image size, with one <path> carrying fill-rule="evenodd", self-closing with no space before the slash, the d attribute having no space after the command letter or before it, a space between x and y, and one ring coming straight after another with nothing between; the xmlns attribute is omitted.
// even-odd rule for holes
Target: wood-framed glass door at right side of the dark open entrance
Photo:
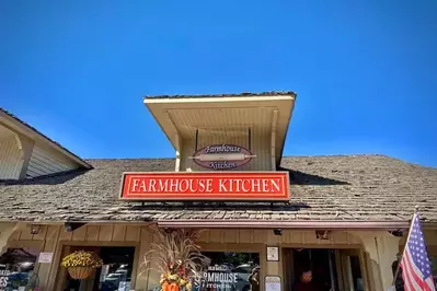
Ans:
<svg viewBox="0 0 437 291"><path fill-rule="evenodd" d="M368 290L365 272L365 258L361 249L341 249L337 269L342 273L341 284L343 290Z"/></svg>

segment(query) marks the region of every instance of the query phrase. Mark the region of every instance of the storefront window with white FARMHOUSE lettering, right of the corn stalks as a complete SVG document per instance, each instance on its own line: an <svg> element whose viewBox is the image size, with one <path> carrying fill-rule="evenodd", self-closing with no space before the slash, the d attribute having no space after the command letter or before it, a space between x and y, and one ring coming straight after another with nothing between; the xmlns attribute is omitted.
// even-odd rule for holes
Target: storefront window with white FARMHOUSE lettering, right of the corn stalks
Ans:
<svg viewBox="0 0 437 291"><path fill-rule="evenodd" d="M202 291L258 291L260 255L257 253L203 253L209 258L202 281Z"/></svg>

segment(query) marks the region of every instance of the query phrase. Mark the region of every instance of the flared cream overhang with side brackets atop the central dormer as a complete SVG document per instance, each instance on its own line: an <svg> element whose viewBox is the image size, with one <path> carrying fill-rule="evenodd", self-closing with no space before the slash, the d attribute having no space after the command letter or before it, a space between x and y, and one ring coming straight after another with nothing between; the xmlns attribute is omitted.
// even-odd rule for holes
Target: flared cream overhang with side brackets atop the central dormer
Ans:
<svg viewBox="0 0 437 291"><path fill-rule="evenodd" d="M146 96L143 103L177 152L181 140L196 135L248 135L272 137L274 159L280 163L296 93ZM223 133L225 132L225 133ZM250 133L249 133L250 135Z"/></svg>

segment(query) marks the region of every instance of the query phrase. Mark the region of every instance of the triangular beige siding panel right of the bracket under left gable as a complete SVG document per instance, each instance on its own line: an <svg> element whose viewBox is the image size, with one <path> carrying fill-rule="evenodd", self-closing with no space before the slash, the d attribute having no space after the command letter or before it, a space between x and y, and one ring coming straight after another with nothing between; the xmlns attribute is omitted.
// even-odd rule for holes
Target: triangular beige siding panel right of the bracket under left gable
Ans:
<svg viewBox="0 0 437 291"><path fill-rule="evenodd" d="M78 164L61 154L35 144L27 167L27 177L37 177L74 170Z"/></svg>

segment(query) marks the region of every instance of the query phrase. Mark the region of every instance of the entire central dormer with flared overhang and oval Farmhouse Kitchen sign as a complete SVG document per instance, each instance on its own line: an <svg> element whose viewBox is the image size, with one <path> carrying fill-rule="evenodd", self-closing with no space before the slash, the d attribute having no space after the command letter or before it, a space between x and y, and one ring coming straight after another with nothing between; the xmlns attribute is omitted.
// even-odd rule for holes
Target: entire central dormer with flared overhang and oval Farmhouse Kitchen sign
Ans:
<svg viewBox="0 0 437 291"><path fill-rule="evenodd" d="M176 150L176 172L275 171L294 92L149 96L143 102Z"/></svg>

